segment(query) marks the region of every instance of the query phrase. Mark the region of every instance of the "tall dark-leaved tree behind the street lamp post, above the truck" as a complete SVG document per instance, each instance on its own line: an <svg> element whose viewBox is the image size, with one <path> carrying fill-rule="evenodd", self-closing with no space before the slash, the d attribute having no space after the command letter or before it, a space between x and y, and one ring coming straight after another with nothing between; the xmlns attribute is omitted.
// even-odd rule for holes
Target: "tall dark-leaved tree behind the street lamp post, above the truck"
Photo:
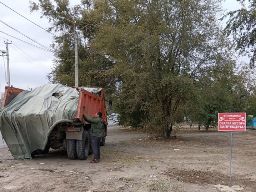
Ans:
<svg viewBox="0 0 256 192"><path fill-rule="evenodd" d="M48 74L49 82L75 85L74 73L74 24L78 34L78 65L79 85L89 87L104 87L108 93L115 91L113 79L105 76L102 79L101 73L109 69L113 63L106 57L97 53L90 46L94 37L97 21L92 21L89 14L92 1L81 1L81 5L70 5L68 0L39 0L38 4L30 2L30 11L41 11L42 17L49 20L49 31L59 32L54 37L52 49L55 54L54 67ZM66 19L61 19L60 17Z"/></svg>

